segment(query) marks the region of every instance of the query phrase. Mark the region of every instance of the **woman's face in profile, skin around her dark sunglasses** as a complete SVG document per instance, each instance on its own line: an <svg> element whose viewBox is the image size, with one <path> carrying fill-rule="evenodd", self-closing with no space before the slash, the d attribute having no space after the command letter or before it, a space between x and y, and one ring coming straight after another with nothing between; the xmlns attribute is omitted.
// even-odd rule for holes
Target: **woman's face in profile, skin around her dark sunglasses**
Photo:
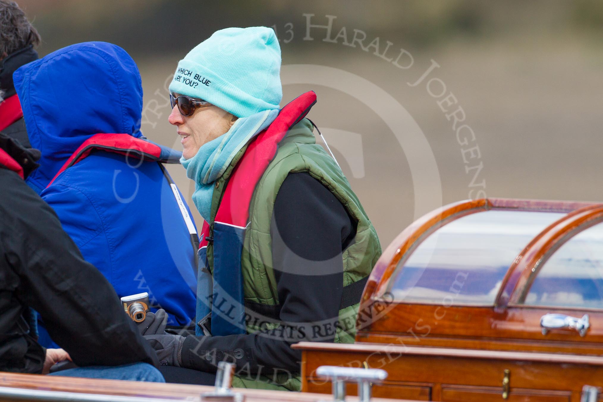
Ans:
<svg viewBox="0 0 603 402"><path fill-rule="evenodd" d="M174 93L174 97L178 95ZM183 157L191 159L204 143L230 130L236 117L215 105L197 107L191 116L182 116L178 105L174 105L168 121L177 127Z"/></svg>

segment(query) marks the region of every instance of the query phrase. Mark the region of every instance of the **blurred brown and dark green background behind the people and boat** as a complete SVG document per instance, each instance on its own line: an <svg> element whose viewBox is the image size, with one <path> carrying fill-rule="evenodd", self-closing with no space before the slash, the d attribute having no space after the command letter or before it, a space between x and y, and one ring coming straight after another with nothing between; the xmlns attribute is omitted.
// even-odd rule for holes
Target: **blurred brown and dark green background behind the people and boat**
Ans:
<svg viewBox="0 0 603 402"><path fill-rule="evenodd" d="M41 56L89 40L130 53L145 92L142 131L178 150L167 122L178 60L221 28L274 28L281 106L317 93L308 117L384 247L461 199L603 201L600 0L17 3L42 36ZM193 207L185 170L169 171Z"/></svg>

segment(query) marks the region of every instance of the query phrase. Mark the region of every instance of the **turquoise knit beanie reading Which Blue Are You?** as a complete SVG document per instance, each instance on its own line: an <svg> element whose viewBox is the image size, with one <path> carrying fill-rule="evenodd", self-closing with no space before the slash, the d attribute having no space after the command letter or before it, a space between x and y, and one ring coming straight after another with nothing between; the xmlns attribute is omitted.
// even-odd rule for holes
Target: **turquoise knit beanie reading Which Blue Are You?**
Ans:
<svg viewBox="0 0 603 402"><path fill-rule="evenodd" d="M216 31L178 62L169 91L203 99L239 118L279 108L283 89L274 31Z"/></svg>

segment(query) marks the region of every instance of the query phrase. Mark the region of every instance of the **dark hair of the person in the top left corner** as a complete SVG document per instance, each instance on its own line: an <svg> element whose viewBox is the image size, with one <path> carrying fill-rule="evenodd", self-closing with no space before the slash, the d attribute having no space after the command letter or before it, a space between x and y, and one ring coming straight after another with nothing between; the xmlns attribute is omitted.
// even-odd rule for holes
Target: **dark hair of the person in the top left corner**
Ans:
<svg viewBox="0 0 603 402"><path fill-rule="evenodd" d="M0 0L0 60L7 55L40 44L40 34L14 1Z"/></svg>

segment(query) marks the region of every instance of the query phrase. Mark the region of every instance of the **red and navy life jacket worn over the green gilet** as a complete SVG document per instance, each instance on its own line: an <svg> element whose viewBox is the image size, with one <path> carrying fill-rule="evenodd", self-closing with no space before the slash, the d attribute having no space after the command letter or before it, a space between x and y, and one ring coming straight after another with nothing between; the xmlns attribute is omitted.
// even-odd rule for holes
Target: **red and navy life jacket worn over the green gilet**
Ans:
<svg viewBox="0 0 603 402"><path fill-rule="evenodd" d="M233 169L211 230L210 225L203 222L199 250L201 263L206 261L208 240L213 242L211 333L214 336L246 332L241 254L251 197L268 164L276 156L279 142L291 127L305 118L315 103L316 93L309 91L280 110L272 124L247 146ZM197 292L198 323L204 318L199 316L199 303L207 303L200 300L203 298L200 290L198 288Z"/></svg>

